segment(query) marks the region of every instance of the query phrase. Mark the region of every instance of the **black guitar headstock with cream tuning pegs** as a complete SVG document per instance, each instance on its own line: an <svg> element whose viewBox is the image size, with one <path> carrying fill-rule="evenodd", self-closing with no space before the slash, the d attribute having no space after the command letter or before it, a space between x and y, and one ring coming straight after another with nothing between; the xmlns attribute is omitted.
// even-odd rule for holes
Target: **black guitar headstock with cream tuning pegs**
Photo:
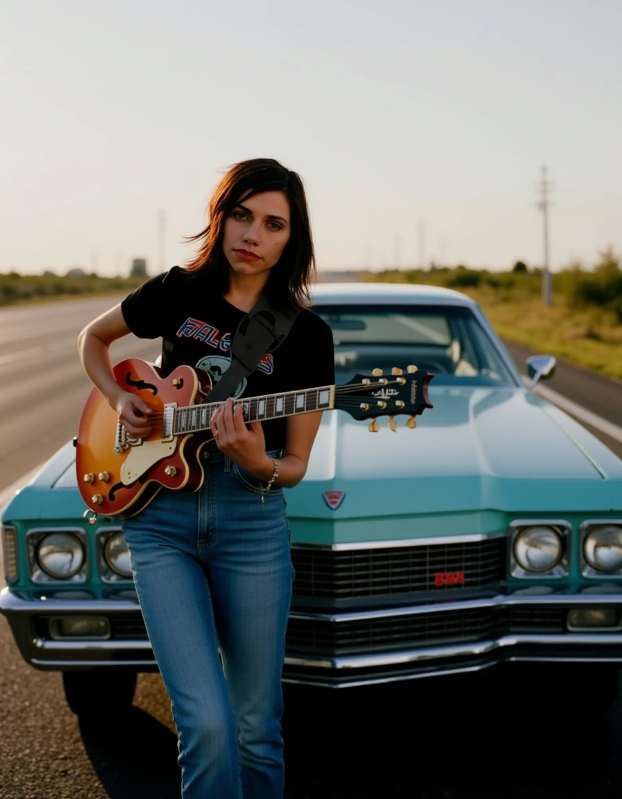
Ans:
<svg viewBox="0 0 622 799"><path fill-rule="evenodd" d="M397 431L397 415L408 415L406 427L417 427L415 416L426 407L433 407L428 396L428 386L433 375L416 366L406 372L393 367L391 374L383 376L374 369L369 376L355 375L348 383L335 389L335 407L347 411L354 419L372 419L369 432L377 433L380 425L377 416L389 416L389 427Z"/></svg>

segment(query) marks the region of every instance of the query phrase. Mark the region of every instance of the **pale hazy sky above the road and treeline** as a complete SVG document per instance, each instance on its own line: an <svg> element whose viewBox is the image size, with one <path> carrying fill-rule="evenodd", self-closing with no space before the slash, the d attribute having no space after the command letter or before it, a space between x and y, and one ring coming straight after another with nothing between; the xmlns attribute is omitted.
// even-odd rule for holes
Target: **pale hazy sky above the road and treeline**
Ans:
<svg viewBox="0 0 622 799"><path fill-rule="evenodd" d="M227 166L305 183L321 269L622 249L619 0L0 0L0 272L150 274ZM163 232L163 233L162 233Z"/></svg>

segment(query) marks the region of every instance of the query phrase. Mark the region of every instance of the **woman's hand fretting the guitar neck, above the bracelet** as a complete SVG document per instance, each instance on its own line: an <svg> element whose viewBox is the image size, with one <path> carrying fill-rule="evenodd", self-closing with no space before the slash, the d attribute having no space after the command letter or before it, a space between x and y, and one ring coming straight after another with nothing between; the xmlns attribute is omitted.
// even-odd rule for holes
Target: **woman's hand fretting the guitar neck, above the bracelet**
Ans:
<svg viewBox="0 0 622 799"><path fill-rule="evenodd" d="M244 421L244 407L229 400L221 403L212 416L212 435L218 449L248 471L265 471L265 437L261 422ZM272 471L272 463L270 463Z"/></svg>

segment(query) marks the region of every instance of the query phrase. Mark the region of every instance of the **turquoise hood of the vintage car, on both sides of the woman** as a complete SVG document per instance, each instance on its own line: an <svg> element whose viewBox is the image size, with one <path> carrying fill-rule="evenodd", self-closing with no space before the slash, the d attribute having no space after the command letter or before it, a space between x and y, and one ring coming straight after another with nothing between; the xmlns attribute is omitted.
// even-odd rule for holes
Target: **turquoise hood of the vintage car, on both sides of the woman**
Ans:
<svg viewBox="0 0 622 799"><path fill-rule="evenodd" d="M380 431L325 413L305 479L285 490L293 540L365 541L488 533L508 514L622 513L622 461L579 423L521 388L431 387L417 429ZM75 519L71 443L3 519ZM319 524L318 524L319 522Z"/></svg>

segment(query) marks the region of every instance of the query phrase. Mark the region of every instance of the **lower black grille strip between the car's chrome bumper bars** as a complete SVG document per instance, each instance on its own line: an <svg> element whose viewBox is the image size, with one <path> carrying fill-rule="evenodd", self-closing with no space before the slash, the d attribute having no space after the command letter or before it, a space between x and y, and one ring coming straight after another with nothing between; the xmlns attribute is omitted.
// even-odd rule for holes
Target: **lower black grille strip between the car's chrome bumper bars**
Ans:
<svg viewBox="0 0 622 799"><path fill-rule="evenodd" d="M476 642L518 632L563 633L560 608L468 608L327 622L290 618L288 654L365 654L417 646Z"/></svg>

